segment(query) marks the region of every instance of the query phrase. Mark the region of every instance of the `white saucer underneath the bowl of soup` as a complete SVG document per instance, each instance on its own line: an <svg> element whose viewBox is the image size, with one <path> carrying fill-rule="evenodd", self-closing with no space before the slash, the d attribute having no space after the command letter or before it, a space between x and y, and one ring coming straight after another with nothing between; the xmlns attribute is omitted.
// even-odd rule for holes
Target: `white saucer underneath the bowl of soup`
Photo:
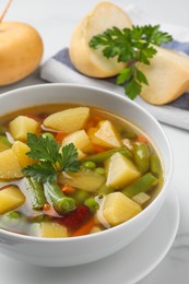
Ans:
<svg viewBox="0 0 189 284"><path fill-rule="evenodd" d="M163 260L175 239L178 223L178 199L175 191L170 191L153 224L131 245L113 256L85 265L60 269L37 268L3 257L5 263L3 259L0 260L1 280L4 280L2 283L21 283L16 273L19 271L19 274L22 274L22 283L27 284L39 283L39 280L46 284L135 283ZM7 265L13 273L4 273L3 265L7 273Z"/></svg>

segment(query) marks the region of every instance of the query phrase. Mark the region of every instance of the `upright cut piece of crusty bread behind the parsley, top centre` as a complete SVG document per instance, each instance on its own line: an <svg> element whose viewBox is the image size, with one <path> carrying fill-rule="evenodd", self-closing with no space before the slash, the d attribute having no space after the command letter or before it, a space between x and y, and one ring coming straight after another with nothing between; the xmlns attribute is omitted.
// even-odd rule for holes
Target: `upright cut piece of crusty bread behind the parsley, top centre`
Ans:
<svg viewBox="0 0 189 284"><path fill-rule="evenodd" d="M132 27L127 13L110 2L101 2L74 28L70 42L70 58L73 66L83 74L94 78L108 78L118 74L125 63L118 63L117 57L107 59L102 50L88 46L94 35L107 28Z"/></svg>

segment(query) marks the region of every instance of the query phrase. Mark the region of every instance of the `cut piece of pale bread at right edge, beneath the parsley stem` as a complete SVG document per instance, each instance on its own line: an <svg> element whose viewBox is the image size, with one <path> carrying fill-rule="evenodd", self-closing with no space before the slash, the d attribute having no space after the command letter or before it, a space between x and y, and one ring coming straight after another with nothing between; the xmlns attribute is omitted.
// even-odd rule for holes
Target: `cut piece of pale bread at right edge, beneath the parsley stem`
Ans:
<svg viewBox="0 0 189 284"><path fill-rule="evenodd" d="M141 97L153 105L175 100L189 88L189 57L169 49L156 47L157 54L150 66L139 63L149 85L142 85Z"/></svg>

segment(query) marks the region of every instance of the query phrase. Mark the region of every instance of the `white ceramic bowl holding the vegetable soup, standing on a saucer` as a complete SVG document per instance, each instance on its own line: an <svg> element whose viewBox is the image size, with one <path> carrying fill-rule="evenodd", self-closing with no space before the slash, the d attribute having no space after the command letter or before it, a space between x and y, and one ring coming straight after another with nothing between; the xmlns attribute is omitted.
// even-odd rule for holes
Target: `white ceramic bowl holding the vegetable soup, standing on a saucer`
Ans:
<svg viewBox="0 0 189 284"><path fill-rule="evenodd" d="M44 84L15 90L0 95L0 116L28 106L54 103L101 107L140 126L155 142L163 158L165 175L161 193L144 211L102 233L67 239L44 239L0 229L2 253L44 267L69 267L109 256L140 236L165 201L173 171L173 155L162 127L151 115L126 97L95 87Z"/></svg>

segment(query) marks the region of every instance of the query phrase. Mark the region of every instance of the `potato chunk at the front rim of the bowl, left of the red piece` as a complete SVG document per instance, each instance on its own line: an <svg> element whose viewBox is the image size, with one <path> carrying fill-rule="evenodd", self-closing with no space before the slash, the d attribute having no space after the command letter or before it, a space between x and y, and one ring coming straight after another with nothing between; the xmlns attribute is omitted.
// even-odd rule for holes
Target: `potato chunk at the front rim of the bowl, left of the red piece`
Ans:
<svg viewBox="0 0 189 284"><path fill-rule="evenodd" d="M34 224L32 234L43 238L66 238L68 237L68 229L52 222L42 222Z"/></svg>

